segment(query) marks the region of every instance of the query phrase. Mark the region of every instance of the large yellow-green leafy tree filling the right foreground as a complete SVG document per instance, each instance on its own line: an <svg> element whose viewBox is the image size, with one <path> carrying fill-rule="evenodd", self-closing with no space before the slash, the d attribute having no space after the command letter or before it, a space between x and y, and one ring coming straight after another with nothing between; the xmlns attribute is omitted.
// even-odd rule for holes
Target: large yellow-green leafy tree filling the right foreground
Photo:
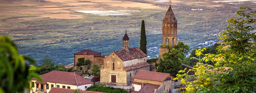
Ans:
<svg viewBox="0 0 256 93"><path fill-rule="evenodd" d="M219 33L219 39L223 40L222 45L218 46L218 51L223 54L202 54L203 50L196 50L196 58L199 63L194 69L195 75L189 76L188 72L181 70L174 80L182 79L181 83L186 85L186 92L245 92L253 93L256 91L256 33L252 33L255 27L254 16L256 11L251 11L248 7L240 7L237 15L241 18L228 19L226 22L227 30ZM200 57L200 56L205 57ZM195 58L195 57L193 57ZM209 70L203 62L213 62L214 69ZM224 69L226 68L226 69ZM195 78L192 82L185 80Z"/></svg>

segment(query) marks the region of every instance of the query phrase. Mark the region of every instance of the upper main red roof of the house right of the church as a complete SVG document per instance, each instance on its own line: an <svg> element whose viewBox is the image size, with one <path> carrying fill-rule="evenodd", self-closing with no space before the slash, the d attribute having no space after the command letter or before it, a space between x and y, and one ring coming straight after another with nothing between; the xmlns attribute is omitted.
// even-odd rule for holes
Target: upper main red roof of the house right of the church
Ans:
<svg viewBox="0 0 256 93"><path fill-rule="evenodd" d="M139 72L136 75L134 75L133 78L146 79L152 81L164 81L169 75L170 74L168 73L139 70Z"/></svg>

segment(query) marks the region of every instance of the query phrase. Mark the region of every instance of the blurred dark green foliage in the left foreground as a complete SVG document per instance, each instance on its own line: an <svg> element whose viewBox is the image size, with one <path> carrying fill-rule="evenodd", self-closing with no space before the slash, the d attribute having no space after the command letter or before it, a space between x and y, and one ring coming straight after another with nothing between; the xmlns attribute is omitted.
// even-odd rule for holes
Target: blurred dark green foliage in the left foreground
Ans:
<svg viewBox="0 0 256 93"><path fill-rule="evenodd" d="M24 92L30 89L31 77L42 79L34 72L25 61L37 66L30 57L18 53L18 48L8 37L0 36L0 93Z"/></svg>

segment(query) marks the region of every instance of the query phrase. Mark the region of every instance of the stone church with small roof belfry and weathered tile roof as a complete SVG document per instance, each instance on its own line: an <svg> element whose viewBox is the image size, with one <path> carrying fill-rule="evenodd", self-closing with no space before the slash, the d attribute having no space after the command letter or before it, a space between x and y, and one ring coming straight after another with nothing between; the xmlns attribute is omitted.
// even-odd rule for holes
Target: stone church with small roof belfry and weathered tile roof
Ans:
<svg viewBox="0 0 256 93"><path fill-rule="evenodd" d="M149 71L147 55L138 47L129 48L129 37L125 33L123 38L123 50L112 52L104 59L104 67L100 72L100 83L114 83L117 85L129 85L133 82L133 76L139 70Z"/></svg>

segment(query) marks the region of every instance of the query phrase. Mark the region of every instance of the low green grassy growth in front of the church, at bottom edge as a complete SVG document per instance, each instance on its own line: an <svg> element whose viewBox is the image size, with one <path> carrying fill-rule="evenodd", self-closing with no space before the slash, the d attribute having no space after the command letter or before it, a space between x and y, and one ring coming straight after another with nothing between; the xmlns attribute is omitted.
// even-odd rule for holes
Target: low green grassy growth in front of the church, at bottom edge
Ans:
<svg viewBox="0 0 256 93"><path fill-rule="evenodd" d="M121 89L121 88L104 87L101 84L93 85L86 90L87 91L106 92L106 93L128 93L126 91L123 91L123 89Z"/></svg>

